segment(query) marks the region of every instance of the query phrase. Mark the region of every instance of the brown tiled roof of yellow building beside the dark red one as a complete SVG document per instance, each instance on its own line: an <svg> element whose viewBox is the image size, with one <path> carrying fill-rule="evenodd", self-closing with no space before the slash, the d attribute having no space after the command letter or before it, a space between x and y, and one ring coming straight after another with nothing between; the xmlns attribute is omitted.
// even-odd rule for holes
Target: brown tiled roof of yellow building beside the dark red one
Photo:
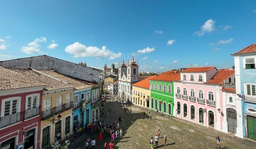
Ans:
<svg viewBox="0 0 256 149"><path fill-rule="evenodd" d="M33 69L20 69L20 68L8 68L8 69L16 73L19 73L26 78L31 79L33 82L45 84L46 86L44 90L54 90L54 89L74 87L69 83L38 73Z"/></svg>

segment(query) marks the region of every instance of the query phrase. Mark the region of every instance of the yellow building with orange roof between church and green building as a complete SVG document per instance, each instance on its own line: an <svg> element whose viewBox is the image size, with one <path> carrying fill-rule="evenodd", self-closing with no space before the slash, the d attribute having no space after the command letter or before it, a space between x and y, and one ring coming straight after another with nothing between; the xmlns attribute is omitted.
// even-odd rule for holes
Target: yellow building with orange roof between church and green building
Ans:
<svg viewBox="0 0 256 149"><path fill-rule="evenodd" d="M137 83L132 84L132 103L149 108L150 81L155 76L149 76Z"/></svg>

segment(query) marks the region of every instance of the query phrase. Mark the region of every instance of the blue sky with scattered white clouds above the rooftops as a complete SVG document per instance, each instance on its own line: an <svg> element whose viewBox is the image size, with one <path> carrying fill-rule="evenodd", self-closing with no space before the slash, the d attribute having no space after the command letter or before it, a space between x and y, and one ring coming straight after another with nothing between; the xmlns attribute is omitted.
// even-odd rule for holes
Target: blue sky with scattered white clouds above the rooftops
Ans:
<svg viewBox="0 0 256 149"><path fill-rule="evenodd" d="M1 0L0 61L48 55L139 72L231 68L256 43L256 1Z"/></svg>

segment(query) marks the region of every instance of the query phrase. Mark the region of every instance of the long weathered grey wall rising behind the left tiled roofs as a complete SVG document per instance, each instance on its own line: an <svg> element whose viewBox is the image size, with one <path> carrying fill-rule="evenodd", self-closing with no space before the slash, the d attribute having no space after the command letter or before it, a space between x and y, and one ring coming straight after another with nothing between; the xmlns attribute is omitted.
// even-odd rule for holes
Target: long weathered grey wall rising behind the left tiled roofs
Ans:
<svg viewBox="0 0 256 149"><path fill-rule="evenodd" d="M97 69L85 67L79 64L63 61L49 56L37 56L30 58L1 61L0 66L7 68L33 68L38 70L53 70L71 77L91 82L100 81L100 73Z"/></svg>

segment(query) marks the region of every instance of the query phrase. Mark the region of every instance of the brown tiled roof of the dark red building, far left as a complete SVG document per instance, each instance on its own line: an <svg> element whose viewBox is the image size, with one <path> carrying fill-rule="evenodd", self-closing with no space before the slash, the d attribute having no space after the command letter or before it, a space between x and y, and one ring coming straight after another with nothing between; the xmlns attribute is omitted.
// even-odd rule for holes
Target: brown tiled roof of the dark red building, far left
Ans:
<svg viewBox="0 0 256 149"><path fill-rule="evenodd" d="M0 66L0 90L25 87L44 86L43 82L35 82L26 76Z"/></svg>

